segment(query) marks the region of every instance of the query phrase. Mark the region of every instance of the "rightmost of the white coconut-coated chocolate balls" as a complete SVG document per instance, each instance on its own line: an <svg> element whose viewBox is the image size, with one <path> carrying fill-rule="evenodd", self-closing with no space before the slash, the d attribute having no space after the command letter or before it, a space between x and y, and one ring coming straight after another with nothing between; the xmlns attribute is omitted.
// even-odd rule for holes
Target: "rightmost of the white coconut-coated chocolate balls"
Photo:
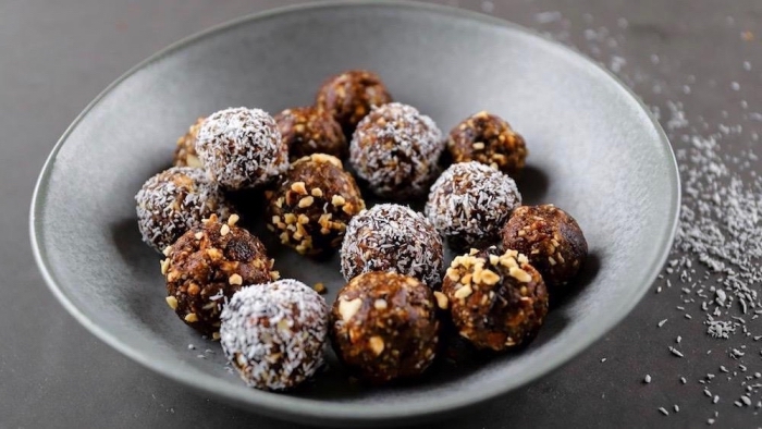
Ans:
<svg viewBox="0 0 762 429"><path fill-rule="evenodd" d="M451 247L483 247L500 240L511 212L521 205L516 182L480 162L450 166L434 182L426 216Z"/></svg>

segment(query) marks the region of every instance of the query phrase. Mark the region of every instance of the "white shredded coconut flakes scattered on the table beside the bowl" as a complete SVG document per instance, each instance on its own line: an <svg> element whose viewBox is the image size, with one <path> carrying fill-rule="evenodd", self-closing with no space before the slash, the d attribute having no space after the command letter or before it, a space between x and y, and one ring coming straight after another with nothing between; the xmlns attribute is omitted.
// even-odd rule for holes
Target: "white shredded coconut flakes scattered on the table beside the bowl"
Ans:
<svg viewBox="0 0 762 429"><path fill-rule="evenodd" d="M543 20L544 16L536 16L536 21L549 26L568 22L555 12L549 14L548 20ZM586 13L582 19L583 25L592 27L591 14ZM729 27L735 25L733 16L727 16L726 21ZM627 25L618 27L627 28ZM568 41L572 38L567 29L568 26L552 34L558 40ZM672 283L677 282L678 290L683 292L680 304L691 312L684 312L685 322L702 322L709 336L721 341L734 339L734 345L738 341L762 341L761 332L757 332L760 324L747 323L762 315L759 298L762 285L762 175L754 171L755 166L750 162L759 158L750 149L743 150L740 156L729 156L723 150L723 146L738 145L741 143L738 140L746 137L750 138L753 147L753 142L758 142L762 134L759 124L762 113L750 111L738 115L739 121L748 121L743 124L728 123L732 114L724 110L720 113L725 123L709 123L701 115L689 114L680 99L689 100L691 88L732 94L741 89L740 84L735 81L718 82L716 78L702 82L701 77L680 73L679 59L671 59L662 52L650 53L650 57L647 54L650 63L628 62L628 57L623 58L623 62L618 60L622 51L617 47L626 42L625 35L611 33L605 27L582 28L578 38L582 40L580 48L607 64L636 93L646 95L652 91L662 97L673 95L673 99L664 105L651 107L675 149L684 196L672 257L659 275L661 282L655 286L655 293L660 298L664 296L664 299L677 296L668 294ZM751 37L746 37L749 34L742 32L742 39L749 40ZM610 40L615 38L618 38L618 42ZM623 66L625 64L627 68ZM648 69L637 70L638 65ZM739 62L736 66L751 70L749 61ZM673 82L665 82L665 75ZM750 101L741 100L741 107L757 110ZM701 317L697 317L695 311L699 311ZM659 326L663 323L665 321ZM745 347L737 348L742 351ZM732 351L725 352L733 356ZM705 355L704 363L709 361L710 356L717 356L712 363L713 367L724 363L717 359L727 359L724 353L712 354L711 348L706 350ZM762 350L759 355L762 355ZM738 356L738 359L743 358L747 359L743 364L751 366L752 371L760 368L759 356L753 363L748 360L748 355ZM737 380L726 369L723 372L728 375L728 380ZM725 377L715 380L724 381ZM684 377L680 377L680 382L687 383ZM706 382L711 382L711 378ZM751 385L743 385L742 382L741 388L748 391ZM759 390L754 391L759 394ZM751 396L749 399L752 400ZM720 396L715 395L713 402L718 400ZM758 407L762 407L762 401L759 401ZM706 424L713 425L717 417L718 413L714 412Z"/></svg>

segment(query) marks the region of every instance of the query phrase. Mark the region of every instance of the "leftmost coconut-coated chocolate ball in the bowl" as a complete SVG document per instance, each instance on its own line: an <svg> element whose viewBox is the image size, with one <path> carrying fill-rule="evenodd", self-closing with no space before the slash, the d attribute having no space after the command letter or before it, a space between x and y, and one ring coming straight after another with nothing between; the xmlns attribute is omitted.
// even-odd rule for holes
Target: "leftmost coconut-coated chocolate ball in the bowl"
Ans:
<svg viewBox="0 0 762 429"><path fill-rule="evenodd" d="M162 252L212 214L226 218L224 194L200 169L172 167L150 177L137 195L137 225L143 241Z"/></svg>

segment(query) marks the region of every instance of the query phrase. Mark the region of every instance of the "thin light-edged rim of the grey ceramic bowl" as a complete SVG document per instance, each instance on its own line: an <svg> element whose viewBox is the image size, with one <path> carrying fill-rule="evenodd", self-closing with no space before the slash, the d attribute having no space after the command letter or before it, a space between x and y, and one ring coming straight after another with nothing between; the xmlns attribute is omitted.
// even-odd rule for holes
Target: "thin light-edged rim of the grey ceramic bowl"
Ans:
<svg viewBox="0 0 762 429"><path fill-rule="evenodd" d="M509 28L512 30L523 33L536 38L540 38L542 42L551 44L555 48L566 51L573 54L579 61L587 63L599 71L602 71L607 75L614 83L618 86L618 89L629 98L631 101L639 106L651 125L654 127L659 135L659 139L662 144L662 149L665 151L665 159L668 162L668 168L672 169L672 175L668 177L668 184L671 186L671 192L673 193L672 207L669 207L669 212L665 213L668 219L672 219L664 231L661 231L661 238L656 243L657 246L654 248L659 249L655 252L651 260L648 263L648 269L642 272L647 272L641 280L642 286L634 293L634 299L625 303L622 306L622 311L612 312L605 320L597 323L592 331L589 332L588 336L581 341L570 344L567 348L567 353L562 355L556 355L552 359L538 363L529 371L520 373L518 377L512 379L505 383L491 383L484 385L475 394L464 396L464 395L450 395L450 396L439 396L432 397L425 401L415 401L404 405L397 405L394 407L390 406L379 406L370 404L353 404L353 403L328 403L316 401L305 397L296 397L284 394L263 392L254 389L247 389L242 384L243 389L248 390L248 394L238 395L241 389L231 389L229 382L223 381L219 377L211 375L204 375L204 377L198 379L188 379L185 377L185 372L181 367L170 365L168 363L156 361L148 358L143 352L136 347L123 343L118 336L111 334L107 330L99 327L88 315L81 310L61 286L59 286L59 281L54 277L51 263L48 259L48 255L44 250L44 237L41 230L41 210L45 206L45 201L48 195L48 182L56 163L56 158L59 150L63 147L65 142L69 139L72 132L76 126L83 121L83 119L96 107L98 106L115 87L118 87L122 82L130 78L133 74L144 70L153 62L160 61L163 58L175 53L185 47L192 46L198 40L204 38L222 34L225 30L234 28L239 25L249 24L257 21L265 21L270 19L276 19L281 15L300 13L305 11L312 10L325 10L332 8L366 8L366 7L385 7L390 9L405 9L407 11L418 11L432 14L446 15L448 17L454 17L458 20L479 22L482 24L501 26L504 28ZM661 127L659 122L655 120L650 109L643 103L643 101L630 89L628 88L616 75L612 72L589 59L581 52L579 52L574 47L563 45L556 40L553 40L550 36L540 34L537 30L524 27L521 25L489 16L479 12L468 11L464 9L419 3L415 1L403 1L403 0L373 0L373 1L356 1L356 0L329 0L319 1L305 4L296 4L288 7L281 7L275 9L270 9L263 12L254 13L245 15L225 23L212 26L202 32L196 33L188 37L185 37L167 48L158 51L157 53L150 56L146 60L139 62L137 65L130 69L114 82L112 82L106 89L103 89L93 101L90 101L85 109L76 117L76 119L69 125L59 140L56 143L50 155L45 161L45 164L40 171L37 179L37 183L34 188L32 196L30 210L29 210L29 237L32 244L32 250L34 254L37 267L53 295L58 298L61 305L72 315L82 326L84 326L91 334L115 348L123 355L130 357L134 361L137 361L142 366L151 369L152 371L162 375L180 384L190 387L197 391L211 393L219 397L224 397L237 404L244 404L249 409L256 409L262 414L280 417L280 418L292 418L300 419L303 421L310 421L308 419L318 420L352 420L352 421L390 421L396 419L405 418L416 418L423 417L432 414L443 414L457 409L462 409L477 403L494 399L496 396L503 395L509 391L516 390L529 382L536 381L537 379L550 373L553 370L561 368L563 365L570 361L583 350L589 347L592 343L600 340L606 332L612 330L635 308L635 306L640 302L646 292L649 290L650 285L653 284L656 275L659 274L661 268L666 261L669 250L672 248L672 243L674 241L678 218L679 218L679 207L681 200L680 191L680 177L677 168L677 160L675 154L672 149L669 140ZM312 420L314 421L314 420Z"/></svg>

